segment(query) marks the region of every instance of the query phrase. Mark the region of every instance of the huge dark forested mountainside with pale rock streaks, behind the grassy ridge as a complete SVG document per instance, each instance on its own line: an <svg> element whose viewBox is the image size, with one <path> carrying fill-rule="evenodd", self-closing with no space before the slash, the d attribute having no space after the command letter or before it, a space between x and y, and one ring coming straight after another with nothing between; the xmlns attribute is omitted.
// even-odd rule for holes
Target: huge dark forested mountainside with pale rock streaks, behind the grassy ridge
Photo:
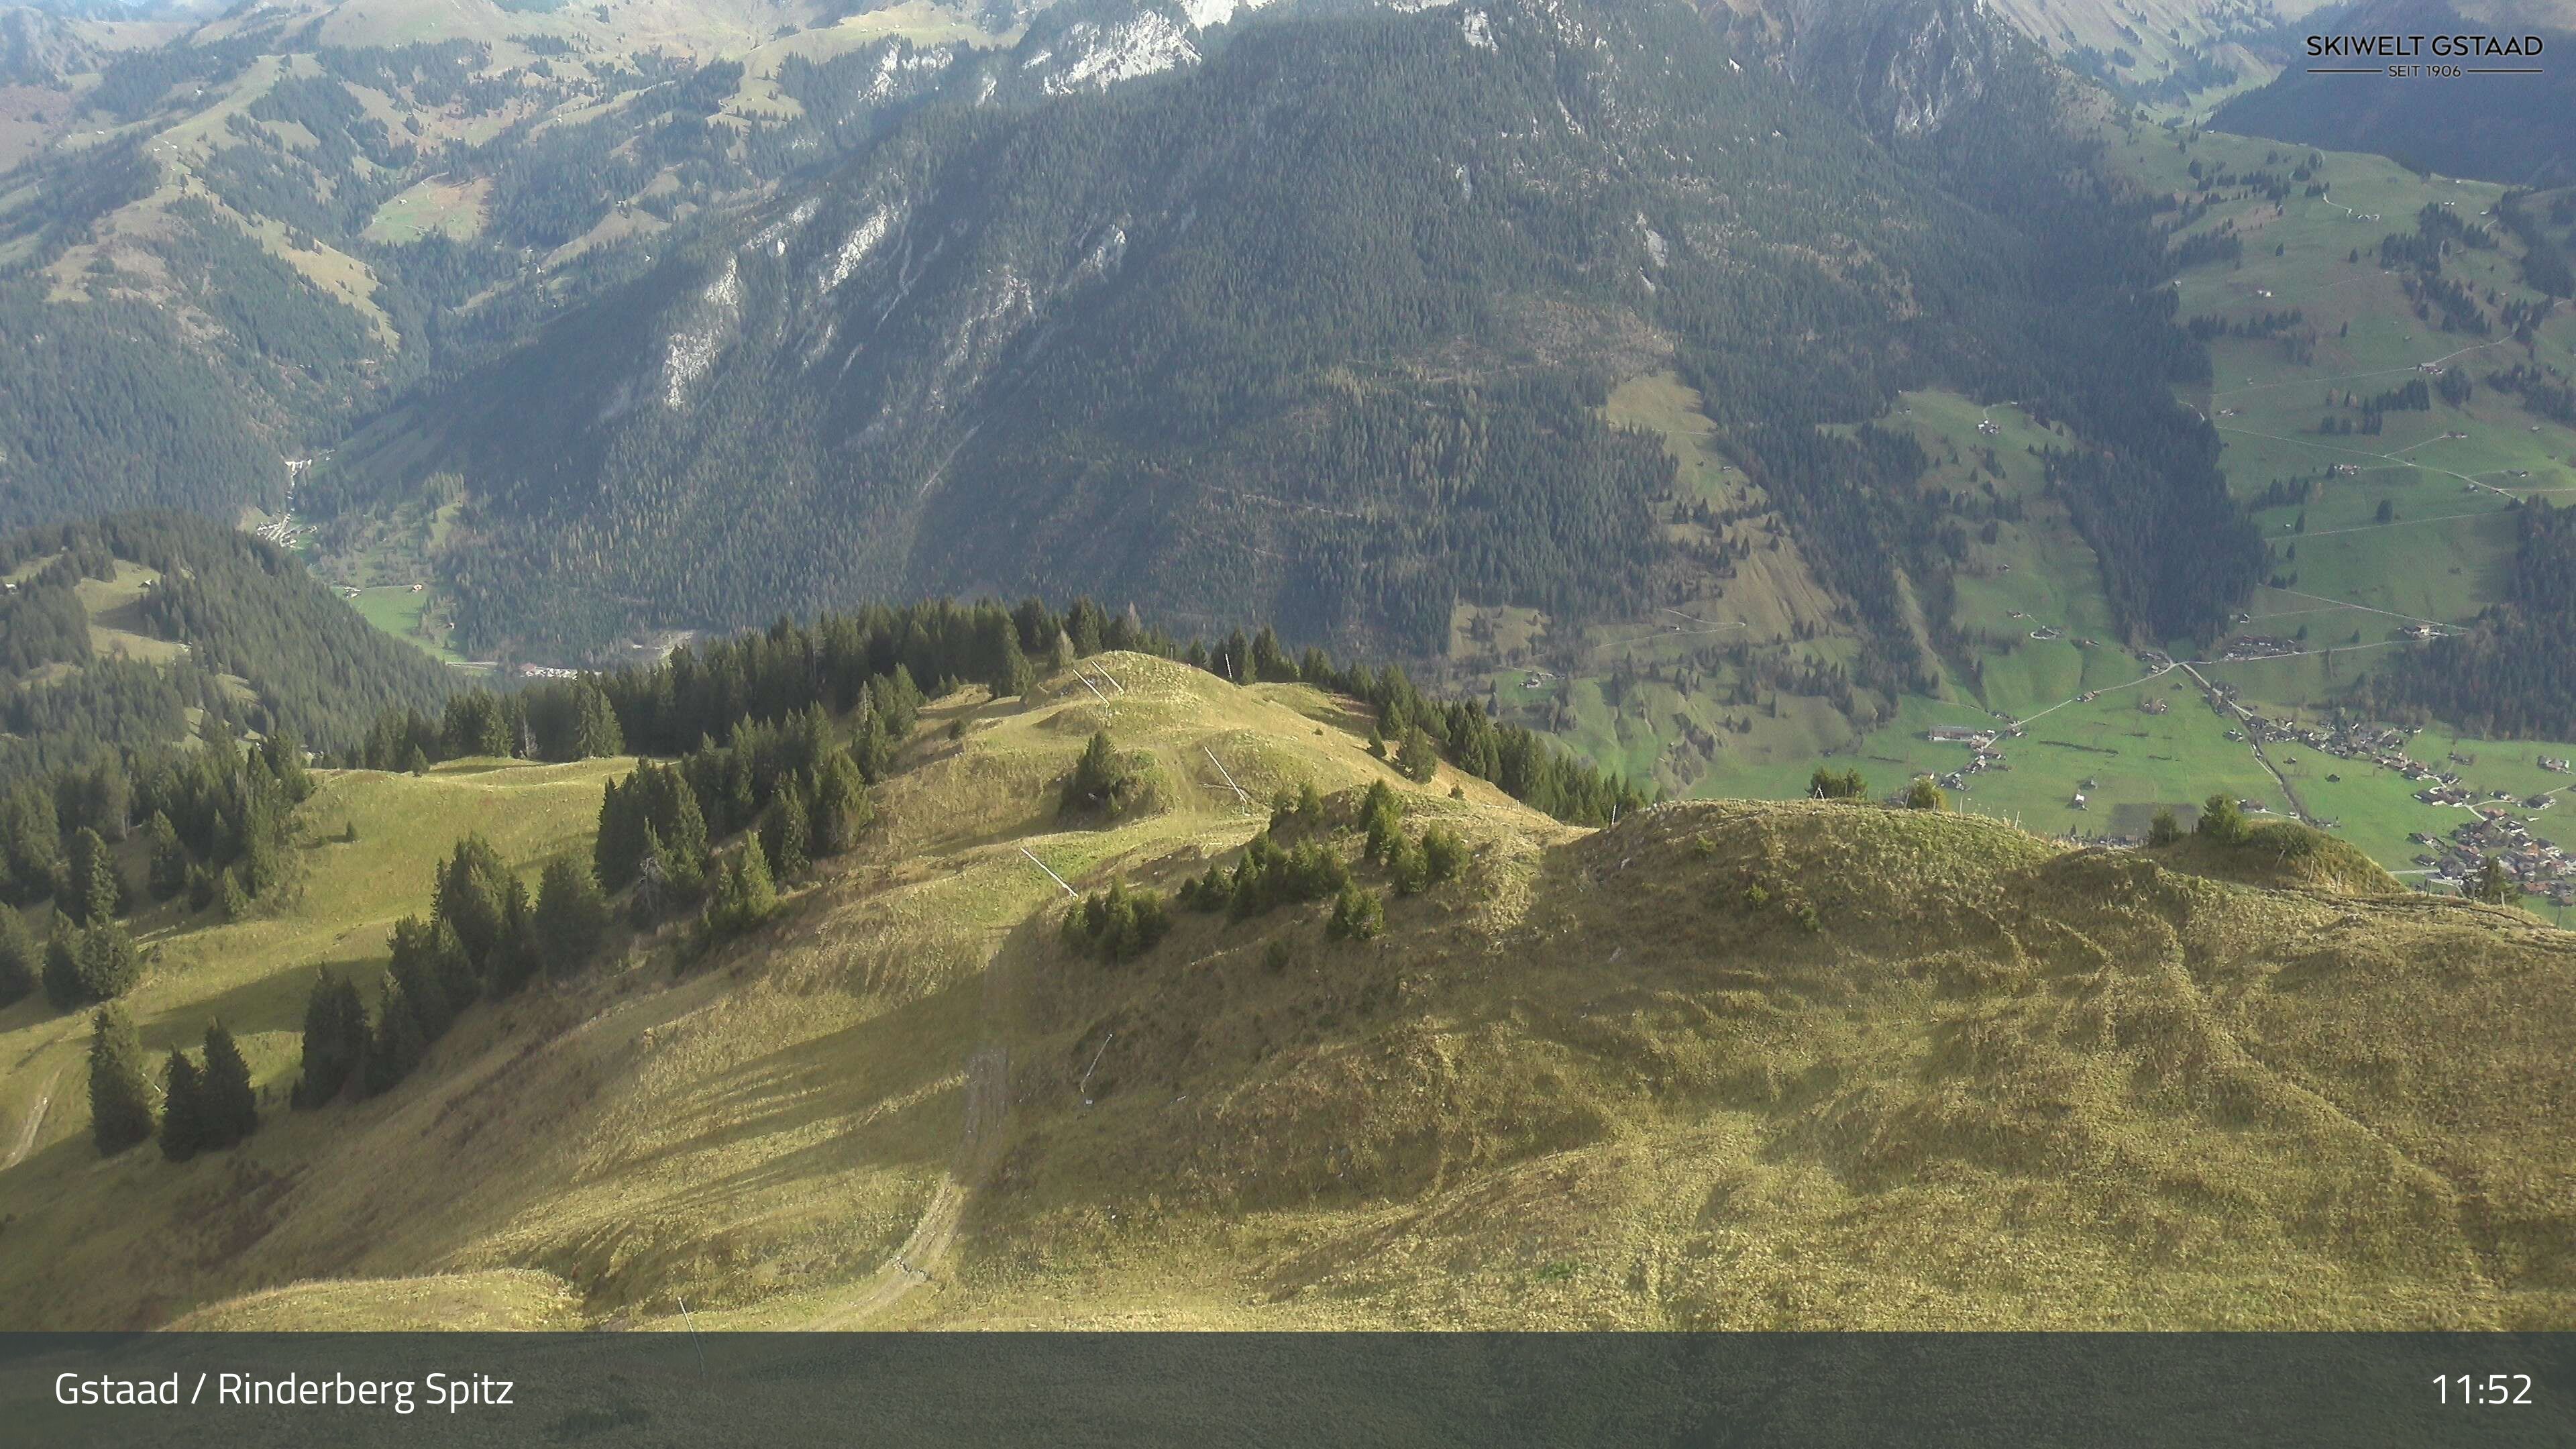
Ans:
<svg viewBox="0 0 2576 1449"><path fill-rule="evenodd" d="M2164 394L2197 353L2133 291L2159 242L2061 175L2043 85L1989 88L1968 206L1677 5L1236 31L1103 98L922 113L358 438L314 508L461 472L471 647L1036 588L1432 652L1461 598L1646 606L1672 467L1595 407L1677 353L1888 637L1878 683L1914 678L1891 562L1940 565L1909 474L1855 487L1808 425L1896 387L2061 397L2112 446L2136 627L2208 629L2251 578Z"/></svg>

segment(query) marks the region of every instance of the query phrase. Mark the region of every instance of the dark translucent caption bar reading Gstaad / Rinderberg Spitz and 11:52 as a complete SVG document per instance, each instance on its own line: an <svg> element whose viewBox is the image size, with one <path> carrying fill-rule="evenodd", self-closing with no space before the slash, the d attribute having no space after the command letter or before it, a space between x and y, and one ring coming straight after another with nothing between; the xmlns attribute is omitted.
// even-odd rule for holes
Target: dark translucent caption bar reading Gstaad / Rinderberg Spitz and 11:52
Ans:
<svg viewBox="0 0 2576 1449"><path fill-rule="evenodd" d="M0 1336L5 1444L2566 1446L2576 1336Z"/></svg>

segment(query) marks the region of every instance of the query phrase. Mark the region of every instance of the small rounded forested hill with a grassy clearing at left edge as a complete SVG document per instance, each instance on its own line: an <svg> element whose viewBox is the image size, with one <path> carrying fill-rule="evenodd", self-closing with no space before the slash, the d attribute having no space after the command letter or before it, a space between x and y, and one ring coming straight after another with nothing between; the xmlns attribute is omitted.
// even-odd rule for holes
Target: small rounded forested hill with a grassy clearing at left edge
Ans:
<svg viewBox="0 0 2576 1449"><path fill-rule="evenodd" d="M379 712L430 706L456 686L294 557L191 513L116 513L0 541L0 572L36 562L0 601L8 663L80 668L0 691L0 779L155 750L188 735L191 709L232 732L353 748ZM134 606L139 637L185 645L180 657L93 657L88 624L75 632L80 580L116 578L118 562L157 575Z"/></svg>

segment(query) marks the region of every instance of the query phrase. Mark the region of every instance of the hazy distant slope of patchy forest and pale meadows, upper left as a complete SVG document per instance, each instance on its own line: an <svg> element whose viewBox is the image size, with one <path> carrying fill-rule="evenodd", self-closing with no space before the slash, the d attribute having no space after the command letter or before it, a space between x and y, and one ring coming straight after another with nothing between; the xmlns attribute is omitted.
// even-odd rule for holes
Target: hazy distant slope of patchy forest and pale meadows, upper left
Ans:
<svg viewBox="0 0 2576 1449"><path fill-rule="evenodd" d="M245 13L21 75L54 144L0 170L0 371L28 379L0 394L0 529L278 508L281 454L634 276L693 211L848 152L966 54L811 46L768 80L786 111L724 124L739 62L523 23L348 46L325 34L366 21ZM379 224L433 180L474 201Z"/></svg>

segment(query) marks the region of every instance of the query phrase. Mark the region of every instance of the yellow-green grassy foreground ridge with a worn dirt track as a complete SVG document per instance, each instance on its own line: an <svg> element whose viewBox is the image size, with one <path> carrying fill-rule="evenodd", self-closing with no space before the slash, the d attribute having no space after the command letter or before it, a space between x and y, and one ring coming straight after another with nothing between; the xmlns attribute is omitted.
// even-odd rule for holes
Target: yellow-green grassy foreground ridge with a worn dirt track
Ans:
<svg viewBox="0 0 2576 1449"><path fill-rule="evenodd" d="M270 1111L227 1158L100 1168L77 1024L8 1008L10 1302L44 1305L26 1325L677 1325L672 1294L701 1328L2576 1312L2568 936L2519 913L1868 804L1587 833L1448 771L1401 781L1303 686L1139 655L1095 678L1121 688L935 701L881 830L773 926L479 1011L394 1093ZM1056 820L1092 730L1154 761L1151 812ZM1072 951L1028 853L1082 890L1231 861L1262 815L1211 755L1257 799L1321 789L1291 838L1355 853L1350 810L1386 784L1471 864L1388 892L1365 944L1319 902L1182 910L1123 964ZM314 846L345 879L152 938L147 1044L224 1016L281 1091L309 972L368 964L440 825L533 871L585 848L616 768L330 779L301 820L361 822ZM270 1297L206 1307L234 1294Z"/></svg>

